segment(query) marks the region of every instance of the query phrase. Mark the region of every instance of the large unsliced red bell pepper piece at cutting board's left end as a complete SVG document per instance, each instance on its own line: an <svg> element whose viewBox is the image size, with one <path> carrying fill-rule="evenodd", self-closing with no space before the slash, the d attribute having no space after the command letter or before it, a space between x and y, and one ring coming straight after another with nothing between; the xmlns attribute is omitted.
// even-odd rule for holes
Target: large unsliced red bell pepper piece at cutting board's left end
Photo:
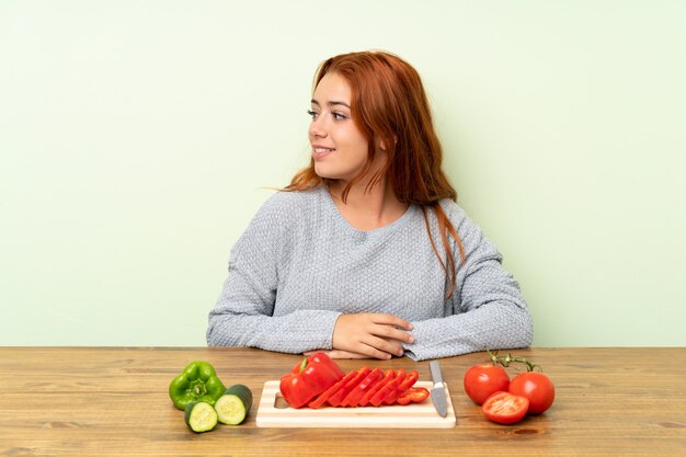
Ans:
<svg viewBox="0 0 686 457"><path fill-rule="evenodd" d="M296 365L281 378L281 393L293 408L301 408L312 398L341 380L345 374L327 354L318 352Z"/></svg>

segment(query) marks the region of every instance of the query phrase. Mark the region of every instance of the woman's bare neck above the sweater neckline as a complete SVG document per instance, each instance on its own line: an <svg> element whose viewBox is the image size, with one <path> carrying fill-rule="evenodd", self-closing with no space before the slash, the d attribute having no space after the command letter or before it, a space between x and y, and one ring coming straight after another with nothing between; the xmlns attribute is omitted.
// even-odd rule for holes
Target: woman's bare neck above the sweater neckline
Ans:
<svg viewBox="0 0 686 457"><path fill-rule="evenodd" d="M329 192L343 218L357 230L368 231L386 227L400 219L408 210L408 204L398 201L386 179L371 188L365 188L366 182L357 183L343 203L345 185L345 182L334 181L329 184Z"/></svg>

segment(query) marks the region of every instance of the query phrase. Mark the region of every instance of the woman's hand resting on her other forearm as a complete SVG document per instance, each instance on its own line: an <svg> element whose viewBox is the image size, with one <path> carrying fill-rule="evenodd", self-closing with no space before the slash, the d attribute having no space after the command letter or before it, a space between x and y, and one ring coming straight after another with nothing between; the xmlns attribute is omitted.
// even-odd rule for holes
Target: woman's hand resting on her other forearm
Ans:
<svg viewBox="0 0 686 457"><path fill-rule="evenodd" d="M402 356L402 343L414 343L412 324L392 315L341 315L333 328L333 358ZM331 355L333 354L333 355Z"/></svg>

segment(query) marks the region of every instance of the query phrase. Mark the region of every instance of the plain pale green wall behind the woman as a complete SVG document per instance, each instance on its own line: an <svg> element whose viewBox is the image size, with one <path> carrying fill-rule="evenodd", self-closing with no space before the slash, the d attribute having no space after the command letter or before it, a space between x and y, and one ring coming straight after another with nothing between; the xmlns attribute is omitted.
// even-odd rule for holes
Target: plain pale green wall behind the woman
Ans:
<svg viewBox="0 0 686 457"><path fill-rule="evenodd" d="M685 345L686 2L0 0L0 344L204 345L307 162L311 78L382 48L535 344Z"/></svg>

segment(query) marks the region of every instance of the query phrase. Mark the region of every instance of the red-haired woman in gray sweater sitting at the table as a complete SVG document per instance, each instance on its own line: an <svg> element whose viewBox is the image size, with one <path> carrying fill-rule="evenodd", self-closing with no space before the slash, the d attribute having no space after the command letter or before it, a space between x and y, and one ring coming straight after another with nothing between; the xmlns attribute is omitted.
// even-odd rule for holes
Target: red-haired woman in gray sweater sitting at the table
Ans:
<svg viewBox="0 0 686 457"><path fill-rule="evenodd" d="M529 345L517 283L455 203L414 68L332 57L309 114L310 164L233 247L207 343L418 361Z"/></svg>

